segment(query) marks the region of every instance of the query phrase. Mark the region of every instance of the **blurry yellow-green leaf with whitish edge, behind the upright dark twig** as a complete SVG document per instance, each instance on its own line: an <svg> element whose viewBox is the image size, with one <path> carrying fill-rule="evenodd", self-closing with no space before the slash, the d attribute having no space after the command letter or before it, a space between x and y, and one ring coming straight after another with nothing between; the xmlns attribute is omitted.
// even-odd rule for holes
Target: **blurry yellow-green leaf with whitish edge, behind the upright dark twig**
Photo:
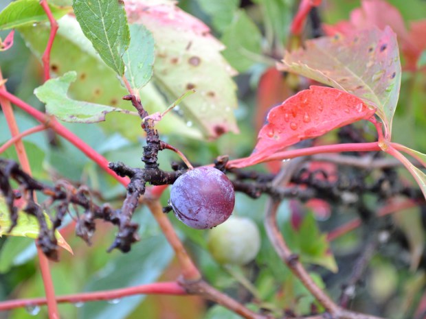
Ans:
<svg viewBox="0 0 426 319"><path fill-rule="evenodd" d="M74 99L96 102L126 110L135 108L122 97L128 92L117 81L115 72L106 66L90 41L80 29L75 18L63 16L58 20L58 33L50 56L51 70L57 74L76 71L78 81L69 88L69 94ZM23 35L28 47L41 58L49 38L49 26L22 27L19 32ZM153 84L148 83L139 90L142 104L148 113L163 111L168 104ZM111 113L108 121L100 123L108 132L120 132L129 139L141 134L140 119L122 113ZM186 121L176 113L169 113L157 128L162 134L179 134L186 137L201 138L201 132L194 127L186 126Z"/></svg>

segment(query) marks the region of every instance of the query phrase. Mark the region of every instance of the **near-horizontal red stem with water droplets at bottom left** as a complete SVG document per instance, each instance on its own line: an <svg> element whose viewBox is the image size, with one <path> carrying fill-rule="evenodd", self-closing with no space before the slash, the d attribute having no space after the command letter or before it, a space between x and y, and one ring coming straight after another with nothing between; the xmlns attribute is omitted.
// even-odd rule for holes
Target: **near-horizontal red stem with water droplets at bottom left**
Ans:
<svg viewBox="0 0 426 319"><path fill-rule="evenodd" d="M100 292L84 292L81 294L70 294L56 297L58 303L85 303L87 301L111 300L134 296L137 294L168 294L168 295L186 295L186 290L174 281L164 283L149 283L135 287L120 288L115 290L103 290ZM8 300L0 303L0 311L20 308L25 306L45 305L45 298Z"/></svg>

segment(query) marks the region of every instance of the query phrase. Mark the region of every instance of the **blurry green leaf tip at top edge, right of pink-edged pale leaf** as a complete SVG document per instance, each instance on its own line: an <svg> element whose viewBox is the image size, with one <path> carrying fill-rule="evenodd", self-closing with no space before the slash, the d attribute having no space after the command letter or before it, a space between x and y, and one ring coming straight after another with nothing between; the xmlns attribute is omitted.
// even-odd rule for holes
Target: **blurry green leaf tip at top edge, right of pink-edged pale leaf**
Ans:
<svg viewBox="0 0 426 319"><path fill-rule="evenodd" d="M231 24L240 0L198 0L198 3L211 16L214 29L223 32Z"/></svg>

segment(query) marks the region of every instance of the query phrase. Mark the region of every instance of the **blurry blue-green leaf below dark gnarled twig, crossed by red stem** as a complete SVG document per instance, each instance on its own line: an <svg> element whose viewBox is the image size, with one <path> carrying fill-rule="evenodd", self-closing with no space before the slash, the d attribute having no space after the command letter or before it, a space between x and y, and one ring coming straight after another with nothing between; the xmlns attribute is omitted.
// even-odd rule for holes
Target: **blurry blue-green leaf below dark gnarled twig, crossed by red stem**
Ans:
<svg viewBox="0 0 426 319"><path fill-rule="evenodd" d="M111 290L153 283L172 260L173 250L147 209L138 211L133 219L141 227L139 231L141 241L134 244L128 254L113 252L105 267L94 274L87 283L86 291ZM81 308L82 313L78 318L127 318L145 297L136 295L123 298L119 305L105 303L105 301L87 303Z"/></svg>

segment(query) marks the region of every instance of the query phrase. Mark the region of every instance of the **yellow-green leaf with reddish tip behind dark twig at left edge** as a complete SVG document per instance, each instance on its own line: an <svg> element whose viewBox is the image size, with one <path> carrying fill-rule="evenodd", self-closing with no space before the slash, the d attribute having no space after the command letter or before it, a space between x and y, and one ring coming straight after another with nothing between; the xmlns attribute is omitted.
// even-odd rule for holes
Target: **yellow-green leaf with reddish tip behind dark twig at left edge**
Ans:
<svg viewBox="0 0 426 319"><path fill-rule="evenodd" d="M8 206L5 202L5 198L0 195L0 237L3 235L8 236L22 236L22 237L30 237L32 239L36 239L38 237L38 233L40 227L38 226L38 221L35 216L28 215L23 211L18 212L18 224L12 229L12 232L7 233L10 228L10 214L8 210ZM45 217L48 221L48 226L52 225L52 222L49 220L49 216L45 213ZM65 248L69 252L72 253L71 247L67 244L67 241L63 239L58 231L55 233L56 239L58 239L58 246Z"/></svg>

